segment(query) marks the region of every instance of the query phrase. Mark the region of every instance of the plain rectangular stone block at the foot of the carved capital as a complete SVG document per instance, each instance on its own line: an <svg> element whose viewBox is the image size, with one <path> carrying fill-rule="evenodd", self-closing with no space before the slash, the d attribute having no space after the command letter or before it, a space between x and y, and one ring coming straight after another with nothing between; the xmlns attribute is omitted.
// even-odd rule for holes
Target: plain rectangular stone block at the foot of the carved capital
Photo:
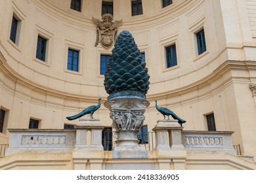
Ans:
<svg viewBox="0 0 256 183"><path fill-rule="evenodd" d="M148 158L146 150L113 150L113 158Z"/></svg>

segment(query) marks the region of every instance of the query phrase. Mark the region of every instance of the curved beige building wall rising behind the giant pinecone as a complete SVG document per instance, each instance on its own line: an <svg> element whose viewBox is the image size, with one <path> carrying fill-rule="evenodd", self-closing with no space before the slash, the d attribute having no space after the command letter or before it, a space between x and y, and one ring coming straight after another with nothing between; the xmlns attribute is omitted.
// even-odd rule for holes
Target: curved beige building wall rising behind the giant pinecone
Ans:
<svg viewBox="0 0 256 183"><path fill-rule="evenodd" d="M207 130L205 114L214 112L217 130L235 131L234 144L245 155L256 156L255 102L249 83L255 79L254 1L173 0L161 8L161 1L142 0L143 14L131 16L129 1L114 0L114 20L123 20L119 31L128 30L140 51L145 52L150 90L144 124L148 129L163 117L154 107L168 107L187 120L186 130ZM70 9L70 1L0 1L0 107L7 110L8 128L28 128L30 118L40 128L62 129L66 116L76 114L102 97L94 117L111 126L103 107L108 96L100 75L100 54L94 46L95 24L100 18L100 1L85 0L82 12ZM21 20L18 43L10 39L12 14ZM198 56L194 33L205 30L207 51ZM47 60L35 58L37 35L49 39ZM165 46L175 42L178 65L166 69ZM80 50L79 72L66 69L68 48Z"/></svg>

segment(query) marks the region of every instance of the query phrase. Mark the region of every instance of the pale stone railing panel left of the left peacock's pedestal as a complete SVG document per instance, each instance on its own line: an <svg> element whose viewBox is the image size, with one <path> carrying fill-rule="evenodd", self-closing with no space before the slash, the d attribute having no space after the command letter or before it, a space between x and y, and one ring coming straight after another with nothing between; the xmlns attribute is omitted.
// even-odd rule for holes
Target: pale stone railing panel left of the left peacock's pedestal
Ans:
<svg viewBox="0 0 256 183"><path fill-rule="evenodd" d="M10 143L6 154L16 152L72 152L75 130L9 129Z"/></svg>

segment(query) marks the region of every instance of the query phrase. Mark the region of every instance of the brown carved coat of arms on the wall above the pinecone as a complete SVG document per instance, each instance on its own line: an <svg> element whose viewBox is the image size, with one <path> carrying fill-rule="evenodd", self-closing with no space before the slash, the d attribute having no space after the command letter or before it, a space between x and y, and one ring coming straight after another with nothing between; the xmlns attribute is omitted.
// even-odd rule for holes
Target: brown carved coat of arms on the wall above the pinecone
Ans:
<svg viewBox="0 0 256 183"><path fill-rule="evenodd" d="M115 42L117 38L117 27L122 24L123 20L112 22L113 16L111 14L102 15L102 20L103 21L93 18L93 22L96 24L97 28L95 46L100 42L101 46L109 48Z"/></svg>

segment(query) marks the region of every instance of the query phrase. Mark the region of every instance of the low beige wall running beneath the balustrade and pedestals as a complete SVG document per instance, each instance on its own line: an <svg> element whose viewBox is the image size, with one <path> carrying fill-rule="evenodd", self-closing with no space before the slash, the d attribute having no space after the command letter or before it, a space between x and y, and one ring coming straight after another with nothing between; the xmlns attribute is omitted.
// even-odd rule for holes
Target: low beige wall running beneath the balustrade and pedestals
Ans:
<svg viewBox="0 0 256 183"><path fill-rule="evenodd" d="M100 155L100 156L99 156ZM74 157L76 156L76 157ZM165 156L165 158L161 158ZM77 159L76 159L77 158ZM24 161L23 159L30 159ZM1 170L251 170L255 163L230 154L154 152L148 159L112 159L112 152L12 154L0 161Z"/></svg>

